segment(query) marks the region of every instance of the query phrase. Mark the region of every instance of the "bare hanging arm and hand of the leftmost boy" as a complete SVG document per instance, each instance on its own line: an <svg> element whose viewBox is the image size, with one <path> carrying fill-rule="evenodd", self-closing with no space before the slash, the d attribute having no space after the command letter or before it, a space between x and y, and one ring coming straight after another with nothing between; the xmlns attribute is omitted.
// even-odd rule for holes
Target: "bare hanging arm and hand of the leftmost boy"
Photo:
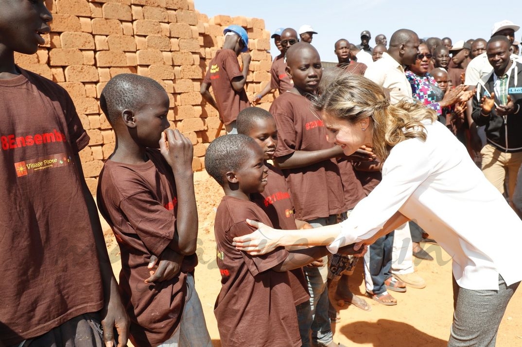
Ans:
<svg viewBox="0 0 522 347"><path fill-rule="evenodd" d="M103 339L105 340L106 345L112 345L114 338L113 329L116 328L119 335L117 347L123 347L127 345L129 319L120 298L120 293L118 292L118 283L116 282L116 278L112 272L109 254L107 253L107 247L105 245L105 239L103 237L103 231L98 217L98 208L96 207L91 192L85 182L80 156L75 154L74 159L84 192L84 199L89 212L92 232L94 234L94 242L96 242L96 250L100 262L100 272L103 283L103 308L101 311Z"/></svg>

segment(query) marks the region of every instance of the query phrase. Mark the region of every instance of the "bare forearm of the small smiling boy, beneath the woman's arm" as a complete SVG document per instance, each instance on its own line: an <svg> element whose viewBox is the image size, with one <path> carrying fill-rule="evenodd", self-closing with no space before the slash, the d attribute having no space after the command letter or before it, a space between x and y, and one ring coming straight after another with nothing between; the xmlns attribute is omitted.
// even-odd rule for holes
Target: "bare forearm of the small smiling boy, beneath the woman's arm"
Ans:
<svg viewBox="0 0 522 347"><path fill-rule="evenodd" d="M353 250L353 244L347 245L339 248L339 253L342 254L354 254L361 255L363 253L363 249L359 251ZM292 250L290 254L284 261L277 266L273 267L272 270L282 272L293 270L305 265L308 265L315 261L316 259L322 258L325 255L330 254L330 252L326 249L325 246L315 246L304 248L300 250Z"/></svg>

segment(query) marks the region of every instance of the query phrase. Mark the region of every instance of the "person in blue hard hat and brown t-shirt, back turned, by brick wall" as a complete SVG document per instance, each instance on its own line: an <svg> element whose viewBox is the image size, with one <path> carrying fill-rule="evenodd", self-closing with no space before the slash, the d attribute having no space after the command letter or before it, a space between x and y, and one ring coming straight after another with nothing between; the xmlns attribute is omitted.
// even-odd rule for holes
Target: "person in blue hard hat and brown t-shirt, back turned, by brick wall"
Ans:
<svg viewBox="0 0 522 347"><path fill-rule="evenodd" d="M240 26L231 25L223 30L225 42L223 48L216 53L210 61L210 66L201 83L200 93L205 100L216 108L219 118L225 125L227 133L238 133L235 127L235 119L239 112L249 106L245 92L246 76L250 66L250 53L248 51L248 35ZM240 69L238 56L243 60L243 70ZM212 91L216 100L209 92Z"/></svg>

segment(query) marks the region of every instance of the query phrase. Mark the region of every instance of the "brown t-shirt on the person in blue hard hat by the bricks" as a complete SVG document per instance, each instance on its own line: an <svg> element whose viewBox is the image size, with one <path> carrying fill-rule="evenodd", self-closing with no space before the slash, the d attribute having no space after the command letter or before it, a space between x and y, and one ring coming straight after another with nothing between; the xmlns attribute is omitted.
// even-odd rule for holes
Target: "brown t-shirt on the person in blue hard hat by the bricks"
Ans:
<svg viewBox="0 0 522 347"><path fill-rule="evenodd" d="M204 82L212 85L212 92L218 105L219 117L225 125L230 124L243 108L248 107L245 89L236 92L232 80L243 77L238 57L232 49L221 49L210 61Z"/></svg>

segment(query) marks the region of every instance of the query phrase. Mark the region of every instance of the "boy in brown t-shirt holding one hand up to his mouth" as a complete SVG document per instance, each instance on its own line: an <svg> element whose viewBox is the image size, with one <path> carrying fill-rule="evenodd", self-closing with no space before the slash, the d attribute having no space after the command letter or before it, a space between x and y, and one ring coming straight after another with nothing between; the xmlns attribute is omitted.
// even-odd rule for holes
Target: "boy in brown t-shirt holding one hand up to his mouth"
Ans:
<svg viewBox="0 0 522 347"><path fill-rule="evenodd" d="M100 173L98 206L120 245L119 285L131 317L131 341L211 346L194 289L198 218L192 143L167 129L169 98L150 78L115 76L100 105L116 148ZM170 262L171 271L148 278L152 257Z"/></svg>

